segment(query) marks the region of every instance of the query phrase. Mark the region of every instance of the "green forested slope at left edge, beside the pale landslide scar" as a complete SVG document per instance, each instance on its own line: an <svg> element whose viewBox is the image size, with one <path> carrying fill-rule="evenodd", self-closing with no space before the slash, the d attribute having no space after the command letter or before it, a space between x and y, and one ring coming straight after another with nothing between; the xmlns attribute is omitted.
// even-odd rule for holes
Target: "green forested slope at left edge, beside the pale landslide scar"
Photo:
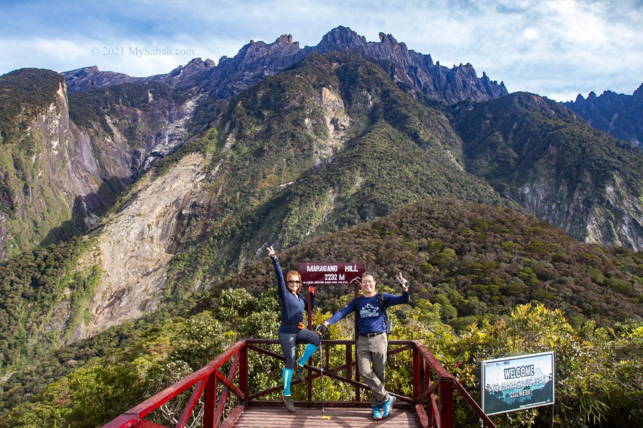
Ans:
<svg viewBox="0 0 643 428"><path fill-rule="evenodd" d="M93 241L73 238L0 262L0 370L6 373L63 344L102 275L98 265L78 269ZM64 312L71 316L65 317ZM64 325L62 335L53 328Z"/></svg>

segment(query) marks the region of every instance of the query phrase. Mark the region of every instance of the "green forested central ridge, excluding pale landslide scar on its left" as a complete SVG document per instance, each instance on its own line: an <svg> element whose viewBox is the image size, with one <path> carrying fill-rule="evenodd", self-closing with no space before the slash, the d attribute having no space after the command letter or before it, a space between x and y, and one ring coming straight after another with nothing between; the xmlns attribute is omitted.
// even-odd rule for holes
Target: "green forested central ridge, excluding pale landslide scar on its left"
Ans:
<svg viewBox="0 0 643 428"><path fill-rule="evenodd" d="M459 166L444 114L345 55L311 54L244 91L216 134L210 201L181 226L168 275L175 299L271 240L289 247L431 195L508 203Z"/></svg>

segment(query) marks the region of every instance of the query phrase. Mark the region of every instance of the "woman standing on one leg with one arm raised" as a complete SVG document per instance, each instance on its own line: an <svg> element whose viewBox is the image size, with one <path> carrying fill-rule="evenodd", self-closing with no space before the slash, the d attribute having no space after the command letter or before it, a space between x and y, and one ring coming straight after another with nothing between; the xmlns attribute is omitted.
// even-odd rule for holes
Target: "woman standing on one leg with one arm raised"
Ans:
<svg viewBox="0 0 643 428"><path fill-rule="evenodd" d="M273 259L273 267L277 277L277 291L279 292L279 303L282 308L282 320L279 326L279 343L285 357L285 367L282 371L284 380L284 392L282 400L284 406L291 412L294 412L293 399L290 394L290 382L293 379L293 370L297 373L300 380L303 377L303 364L320 346L320 337L317 334L303 328L303 310L312 310L315 302L314 289L312 291L312 307L308 307L308 301L300 290L302 289L302 277L296 271L289 271L285 276L281 270L279 259L275 254L273 247L268 247L268 255ZM299 361L294 361L295 347L298 343L307 343L303 355Z"/></svg>

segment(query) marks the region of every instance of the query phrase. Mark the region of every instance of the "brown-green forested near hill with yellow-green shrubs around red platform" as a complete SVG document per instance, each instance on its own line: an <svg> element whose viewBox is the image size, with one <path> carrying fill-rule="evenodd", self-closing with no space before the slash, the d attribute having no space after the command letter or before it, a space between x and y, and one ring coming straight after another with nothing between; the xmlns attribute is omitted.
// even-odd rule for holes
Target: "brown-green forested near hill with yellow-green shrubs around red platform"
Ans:
<svg viewBox="0 0 643 428"><path fill-rule="evenodd" d="M474 397L481 359L554 350L556 425L629 427L643 418L639 253L581 244L506 208L429 199L368 225L318 236L282 252L280 260L284 269L302 260L363 261L379 290L390 292L394 275L404 272L412 280L412 302L392 310L393 337L424 341ZM3 424L100 425L200 368L238 337L276 337L274 287L264 258L182 316L157 313L60 348L41 362L59 371L59 380L43 389L39 377L23 371L5 384ZM318 287L314 323L345 304L350 288ZM350 319L331 328L332 339L351 335ZM331 354L333 361L341 358L338 350ZM410 388L408 361L399 357L392 364L390 388L404 392ZM278 365L252 359L252 388L278 384ZM338 384L324 389L327 399L347 398ZM152 417L167 424L167 411ZM549 417L534 409L494 420L527 427L548 425ZM477 424L464 402L457 420Z"/></svg>

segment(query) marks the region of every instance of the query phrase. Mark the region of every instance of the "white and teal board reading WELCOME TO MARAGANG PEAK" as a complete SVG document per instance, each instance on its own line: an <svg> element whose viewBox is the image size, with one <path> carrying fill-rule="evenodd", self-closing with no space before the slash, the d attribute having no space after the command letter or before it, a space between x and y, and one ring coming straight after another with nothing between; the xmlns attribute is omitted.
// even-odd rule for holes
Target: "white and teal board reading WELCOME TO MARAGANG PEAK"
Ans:
<svg viewBox="0 0 643 428"><path fill-rule="evenodd" d="M554 404L554 352L480 362L486 415Z"/></svg>

